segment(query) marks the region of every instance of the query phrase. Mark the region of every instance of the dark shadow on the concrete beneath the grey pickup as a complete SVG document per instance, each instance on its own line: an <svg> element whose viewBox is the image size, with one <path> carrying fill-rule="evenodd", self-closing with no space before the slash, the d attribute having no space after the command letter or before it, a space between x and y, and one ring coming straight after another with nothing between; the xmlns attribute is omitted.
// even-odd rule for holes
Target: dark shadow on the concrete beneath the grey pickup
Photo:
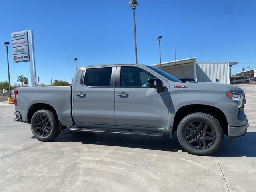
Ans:
<svg viewBox="0 0 256 192"><path fill-rule="evenodd" d="M141 148L149 150L161 150L177 152L178 150L186 152L179 144L176 133L172 139L170 134L164 138L148 138L142 136L126 136L116 134L100 133L76 133L69 130L63 133L53 142L81 142L82 144L118 146L128 148ZM221 148L216 152L218 157L256 157L256 133L247 132L245 136L238 137L232 144L228 143L228 137L224 137ZM211 156L215 156L212 154Z"/></svg>

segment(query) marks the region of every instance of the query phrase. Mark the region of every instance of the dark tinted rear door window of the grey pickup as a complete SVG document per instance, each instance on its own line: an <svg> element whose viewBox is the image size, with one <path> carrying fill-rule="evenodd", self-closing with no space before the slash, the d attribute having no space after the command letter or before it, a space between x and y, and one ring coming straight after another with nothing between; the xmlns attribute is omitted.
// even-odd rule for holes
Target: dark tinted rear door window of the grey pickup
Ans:
<svg viewBox="0 0 256 192"><path fill-rule="evenodd" d="M112 67L86 69L84 85L90 87L109 87Z"/></svg>

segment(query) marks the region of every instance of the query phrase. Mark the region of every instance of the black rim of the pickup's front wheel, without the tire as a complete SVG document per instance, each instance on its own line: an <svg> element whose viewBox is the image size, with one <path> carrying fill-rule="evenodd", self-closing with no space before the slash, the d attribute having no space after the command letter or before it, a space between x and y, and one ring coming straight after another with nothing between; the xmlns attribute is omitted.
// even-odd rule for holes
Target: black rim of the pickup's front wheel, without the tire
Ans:
<svg viewBox="0 0 256 192"><path fill-rule="evenodd" d="M192 121L185 128L185 139L196 149L207 149L214 144L214 129L204 121Z"/></svg>

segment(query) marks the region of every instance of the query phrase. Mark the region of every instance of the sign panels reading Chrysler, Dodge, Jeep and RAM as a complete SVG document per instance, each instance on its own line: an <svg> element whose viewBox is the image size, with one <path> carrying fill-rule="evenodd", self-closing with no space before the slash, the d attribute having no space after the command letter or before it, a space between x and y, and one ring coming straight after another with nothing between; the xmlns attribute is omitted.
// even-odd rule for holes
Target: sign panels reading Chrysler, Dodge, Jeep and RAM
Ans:
<svg viewBox="0 0 256 192"><path fill-rule="evenodd" d="M20 31L11 34L13 62L29 61L28 32Z"/></svg>

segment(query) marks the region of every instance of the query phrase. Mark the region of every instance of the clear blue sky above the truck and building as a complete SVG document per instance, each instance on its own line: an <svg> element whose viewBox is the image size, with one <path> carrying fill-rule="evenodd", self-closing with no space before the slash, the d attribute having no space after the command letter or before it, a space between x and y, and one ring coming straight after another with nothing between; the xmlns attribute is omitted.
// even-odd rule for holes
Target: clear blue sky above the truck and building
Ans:
<svg viewBox="0 0 256 192"><path fill-rule="evenodd" d="M4 41L10 34L34 30L36 72L40 82L50 77L71 82L74 58L78 66L134 63L132 9L128 0L0 1L0 81L8 80ZM232 73L256 68L255 0L138 0L136 9L138 63L197 57L197 61L239 61ZM23 74L30 80L29 62L12 62L10 82Z"/></svg>

